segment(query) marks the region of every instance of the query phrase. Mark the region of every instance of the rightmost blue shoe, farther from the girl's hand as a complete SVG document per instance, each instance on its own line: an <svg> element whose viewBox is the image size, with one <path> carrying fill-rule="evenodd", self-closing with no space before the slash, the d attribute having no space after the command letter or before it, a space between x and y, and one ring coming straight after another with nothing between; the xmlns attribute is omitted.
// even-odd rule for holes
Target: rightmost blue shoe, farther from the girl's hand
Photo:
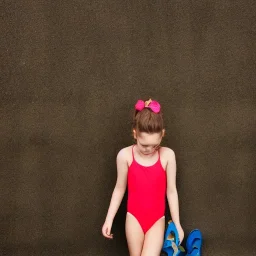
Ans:
<svg viewBox="0 0 256 256"><path fill-rule="evenodd" d="M202 241L201 231L199 229L192 230L186 242L187 256L201 256Z"/></svg>

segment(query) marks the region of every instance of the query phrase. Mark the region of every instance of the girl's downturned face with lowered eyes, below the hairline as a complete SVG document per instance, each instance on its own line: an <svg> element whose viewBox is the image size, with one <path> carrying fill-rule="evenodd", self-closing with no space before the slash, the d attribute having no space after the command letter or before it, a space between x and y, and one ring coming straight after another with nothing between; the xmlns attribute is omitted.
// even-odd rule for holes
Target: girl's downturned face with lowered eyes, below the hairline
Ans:
<svg viewBox="0 0 256 256"><path fill-rule="evenodd" d="M137 140L138 149L143 155L154 153L159 148L163 138L163 133L133 132L134 138Z"/></svg>

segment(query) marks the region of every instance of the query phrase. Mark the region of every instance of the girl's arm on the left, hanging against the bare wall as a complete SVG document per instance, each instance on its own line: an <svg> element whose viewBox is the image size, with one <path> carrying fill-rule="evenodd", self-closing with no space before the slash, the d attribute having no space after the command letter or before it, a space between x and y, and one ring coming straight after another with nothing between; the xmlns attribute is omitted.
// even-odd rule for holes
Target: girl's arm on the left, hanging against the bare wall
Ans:
<svg viewBox="0 0 256 256"><path fill-rule="evenodd" d="M118 211L118 208L122 202L122 199L124 197L124 193L126 190L128 163L127 163L125 151L126 151L125 149L120 150L116 158L116 165L117 165L116 186L112 194L112 198L110 201L105 223L102 227L102 234L107 238L113 238L113 234L111 234L112 223Z"/></svg>

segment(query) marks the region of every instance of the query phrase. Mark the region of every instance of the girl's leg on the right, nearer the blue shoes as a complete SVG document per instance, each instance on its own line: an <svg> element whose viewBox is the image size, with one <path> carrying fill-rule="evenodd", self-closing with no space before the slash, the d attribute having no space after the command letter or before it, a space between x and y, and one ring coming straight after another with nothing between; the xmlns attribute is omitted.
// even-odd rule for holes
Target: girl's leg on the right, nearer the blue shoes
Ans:
<svg viewBox="0 0 256 256"><path fill-rule="evenodd" d="M159 256L164 242L165 218L161 218L145 235L141 256Z"/></svg>

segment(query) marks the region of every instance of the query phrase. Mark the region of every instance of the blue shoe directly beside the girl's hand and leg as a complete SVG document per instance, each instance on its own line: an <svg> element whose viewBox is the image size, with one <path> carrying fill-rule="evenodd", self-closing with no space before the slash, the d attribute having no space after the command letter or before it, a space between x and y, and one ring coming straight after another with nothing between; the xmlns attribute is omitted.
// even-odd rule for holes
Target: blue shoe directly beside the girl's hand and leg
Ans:
<svg viewBox="0 0 256 256"><path fill-rule="evenodd" d="M165 232L162 250L166 252L168 256L182 256L184 255L184 252L178 248L179 244L178 231L174 222L170 221Z"/></svg>

